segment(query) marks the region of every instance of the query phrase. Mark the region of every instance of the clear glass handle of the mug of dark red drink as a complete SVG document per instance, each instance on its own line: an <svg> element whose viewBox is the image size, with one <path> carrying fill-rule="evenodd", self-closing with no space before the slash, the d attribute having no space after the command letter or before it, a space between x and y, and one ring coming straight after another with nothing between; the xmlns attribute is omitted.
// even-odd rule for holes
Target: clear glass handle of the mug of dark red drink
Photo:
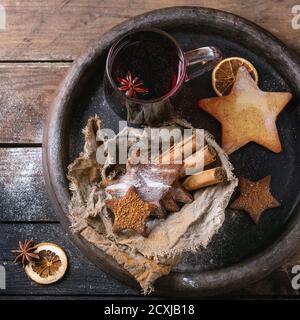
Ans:
<svg viewBox="0 0 300 320"><path fill-rule="evenodd" d="M211 70L222 59L221 51L216 47L187 51L184 57L186 59L186 82Z"/></svg>

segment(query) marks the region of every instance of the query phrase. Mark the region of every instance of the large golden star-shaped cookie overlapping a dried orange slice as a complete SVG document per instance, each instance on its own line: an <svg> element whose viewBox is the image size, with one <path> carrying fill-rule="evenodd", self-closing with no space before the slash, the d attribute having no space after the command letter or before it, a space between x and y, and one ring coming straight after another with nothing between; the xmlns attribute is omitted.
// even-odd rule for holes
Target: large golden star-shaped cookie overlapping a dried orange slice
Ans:
<svg viewBox="0 0 300 320"><path fill-rule="evenodd" d="M241 67L228 96L202 99L198 105L221 122L222 147L228 154L251 141L278 153L276 119L291 98L290 92L261 91Z"/></svg>

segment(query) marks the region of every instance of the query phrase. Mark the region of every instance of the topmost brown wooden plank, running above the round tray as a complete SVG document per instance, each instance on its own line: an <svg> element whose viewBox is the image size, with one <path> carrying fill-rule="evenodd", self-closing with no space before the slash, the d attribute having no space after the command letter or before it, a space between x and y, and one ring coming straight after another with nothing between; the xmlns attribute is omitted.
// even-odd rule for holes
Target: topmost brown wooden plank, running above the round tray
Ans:
<svg viewBox="0 0 300 320"><path fill-rule="evenodd" d="M0 60L69 60L116 24L146 11L179 5L212 7L238 14L271 31L300 52L291 26L294 0L4 0Z"/></svg>

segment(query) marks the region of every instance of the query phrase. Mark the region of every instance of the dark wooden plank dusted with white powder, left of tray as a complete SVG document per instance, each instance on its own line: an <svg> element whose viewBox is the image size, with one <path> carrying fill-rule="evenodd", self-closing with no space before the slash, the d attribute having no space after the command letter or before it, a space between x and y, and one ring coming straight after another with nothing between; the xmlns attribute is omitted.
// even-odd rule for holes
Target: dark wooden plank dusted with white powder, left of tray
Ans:
<svg viewBox="0 0 300 320"><path fill-rule="evenodd" d="M0 149L0 221L57 220L49 201L41 148Z"/></svg>

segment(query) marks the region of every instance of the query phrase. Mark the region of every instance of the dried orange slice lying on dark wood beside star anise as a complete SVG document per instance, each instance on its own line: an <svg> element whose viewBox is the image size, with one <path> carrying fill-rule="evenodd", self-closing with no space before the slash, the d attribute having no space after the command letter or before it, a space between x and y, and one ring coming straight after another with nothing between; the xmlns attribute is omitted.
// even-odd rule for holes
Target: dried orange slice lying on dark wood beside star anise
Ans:
<svg viewBox="0 0 300 320"><path fill-rule="evenodd" d="M59 281L67 271L68 258L64 250L50 242L36 245L34 253L39 259L25 267L29 278L39 284L50 284Z"/></svg>

